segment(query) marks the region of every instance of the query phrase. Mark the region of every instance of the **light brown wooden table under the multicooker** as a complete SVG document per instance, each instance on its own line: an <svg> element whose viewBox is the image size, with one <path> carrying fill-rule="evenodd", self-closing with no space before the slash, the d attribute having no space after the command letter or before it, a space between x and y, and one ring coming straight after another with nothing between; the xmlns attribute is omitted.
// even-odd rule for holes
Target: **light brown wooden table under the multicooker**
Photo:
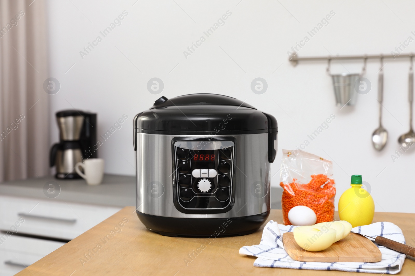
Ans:
<svg viewBox="0 0 415 276"><path fill-rule="evenodd" d="M281 222L281 210L271 210L270 219ZM374 222L377 221L391 221L400 226L407 243L414 245L415 214L375 213ZM137 218L135 208L129 206L16 275L277 276L281 271L281 276L362 275L342 271L254 267L256 258L239 255L239 248L259 244L263 227L251 235L215 238L210 242L203 238L171 238L147 230ZM107 235L109 238L105 238ZM190 258L191 254L194 257ZM399 275L414 274L415 260L407 256Z"/></svg>

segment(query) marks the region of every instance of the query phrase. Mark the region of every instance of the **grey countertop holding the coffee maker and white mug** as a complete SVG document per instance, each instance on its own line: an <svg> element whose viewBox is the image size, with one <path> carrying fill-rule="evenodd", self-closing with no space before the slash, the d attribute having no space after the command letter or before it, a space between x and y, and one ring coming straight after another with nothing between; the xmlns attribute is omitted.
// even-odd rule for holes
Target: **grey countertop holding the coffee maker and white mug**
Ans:
<svg viewBox="0 0 415 276"><path fill-rule="evenodd" d="M58 196L47 193L49 184L57 187L56 191L60 187ZM127 175L106 174L103 182L96 186L87 185L83 179L61 180L53 176L0 183L2 195L45 200L56 196L52 200L120 207L136 205L135 190L135 177ZM281 209L281 194L280 187L271 187L271 209Z"/></svg>

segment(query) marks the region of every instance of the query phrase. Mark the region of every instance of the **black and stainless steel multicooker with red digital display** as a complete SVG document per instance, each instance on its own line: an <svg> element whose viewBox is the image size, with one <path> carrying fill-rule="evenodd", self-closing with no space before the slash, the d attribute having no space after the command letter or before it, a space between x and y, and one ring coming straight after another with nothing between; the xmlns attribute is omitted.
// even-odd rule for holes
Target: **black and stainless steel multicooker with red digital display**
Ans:
<svg viewBox="0 0 415 276"><path fill-rule="evenodd" d="M161 97L134 117L137 215L169 236L246 235L270 211L276 119L218 94Z"/></svg>

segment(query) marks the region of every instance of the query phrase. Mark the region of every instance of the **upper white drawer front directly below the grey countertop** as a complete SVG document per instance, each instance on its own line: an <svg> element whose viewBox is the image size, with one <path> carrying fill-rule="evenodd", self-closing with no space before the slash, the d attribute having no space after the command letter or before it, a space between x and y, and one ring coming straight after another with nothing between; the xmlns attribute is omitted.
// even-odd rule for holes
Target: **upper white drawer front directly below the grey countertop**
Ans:
<svg viewBox="0 0 415 276"><path fill-rule="evenodd" d="M0 230L72 240L120 209L0 196Z"/></svg>

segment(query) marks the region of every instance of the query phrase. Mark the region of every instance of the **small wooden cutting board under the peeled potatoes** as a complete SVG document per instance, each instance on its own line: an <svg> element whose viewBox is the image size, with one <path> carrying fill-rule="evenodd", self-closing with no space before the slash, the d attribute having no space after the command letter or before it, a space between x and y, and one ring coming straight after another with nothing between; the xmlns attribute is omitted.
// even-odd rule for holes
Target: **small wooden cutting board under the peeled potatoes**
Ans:
<svg viewBox="0 0 415 276"><path fill-rule="evenodd" d="M329 248L310 252L301 248L294 240L294 233L283 234L283 244L288 255L300 262L380 262L382 254L378 247L362 235L349 235L334 242Z"/></svg>

